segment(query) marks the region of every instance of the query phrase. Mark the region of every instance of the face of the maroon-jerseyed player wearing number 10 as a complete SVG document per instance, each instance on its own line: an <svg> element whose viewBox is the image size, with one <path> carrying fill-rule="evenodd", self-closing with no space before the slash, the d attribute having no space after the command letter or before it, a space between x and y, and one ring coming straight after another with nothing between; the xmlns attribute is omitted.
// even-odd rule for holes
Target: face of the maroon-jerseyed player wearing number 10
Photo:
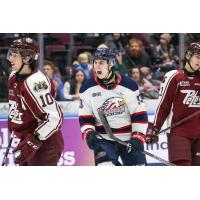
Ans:
<svg viewBox="0 0 200 200"><path fill-rule="evenodd" d="M8 60L11 63L12 70L18 72L23 64L20 53L19 52L9 52Z"/></svg>

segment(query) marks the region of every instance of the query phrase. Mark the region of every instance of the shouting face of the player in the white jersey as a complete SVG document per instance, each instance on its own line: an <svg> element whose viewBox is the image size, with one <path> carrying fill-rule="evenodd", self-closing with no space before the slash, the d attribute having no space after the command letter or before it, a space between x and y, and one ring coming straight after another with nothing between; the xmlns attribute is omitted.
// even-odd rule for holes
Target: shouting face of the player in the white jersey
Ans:
<svg viewBox="0 0 200 200"><path fill-rule="evenodd" d="M107 60L94 60L94 72L99 79L104 79L108 76L109 67Z"/></svg>

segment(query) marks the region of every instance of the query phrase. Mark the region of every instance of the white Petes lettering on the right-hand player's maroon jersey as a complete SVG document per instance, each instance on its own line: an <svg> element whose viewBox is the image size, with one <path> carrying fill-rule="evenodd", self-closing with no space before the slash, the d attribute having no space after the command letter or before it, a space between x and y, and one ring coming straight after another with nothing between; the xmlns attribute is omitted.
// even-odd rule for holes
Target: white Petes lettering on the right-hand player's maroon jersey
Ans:
<svg viewBox="0 0 200 200"><path fill-rule="evenodd" d="M188 107L200 107L200 96L198 96L198 91L181 90L181 93L186 94L183 104L188 105Z"/></svg>

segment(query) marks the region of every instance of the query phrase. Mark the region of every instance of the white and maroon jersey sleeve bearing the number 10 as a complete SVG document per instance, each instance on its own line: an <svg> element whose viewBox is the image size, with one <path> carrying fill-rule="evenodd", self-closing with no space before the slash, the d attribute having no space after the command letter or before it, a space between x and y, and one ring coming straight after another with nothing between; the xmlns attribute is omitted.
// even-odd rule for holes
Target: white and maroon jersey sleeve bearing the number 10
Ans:
<svg viewBox="0 0 200 200"><path fill-rule="evenodd" d="M52 89L51 82L42 75L24 82L22 100L39 122L35 133L40 140L46 140L58 131L63 120L61 109L52 96Z"/></svg>

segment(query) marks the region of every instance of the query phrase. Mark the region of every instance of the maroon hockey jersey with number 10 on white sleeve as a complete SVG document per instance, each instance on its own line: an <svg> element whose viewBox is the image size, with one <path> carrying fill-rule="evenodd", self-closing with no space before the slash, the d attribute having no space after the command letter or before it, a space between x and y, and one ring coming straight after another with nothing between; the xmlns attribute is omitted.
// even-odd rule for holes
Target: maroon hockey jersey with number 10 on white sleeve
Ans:
<svg viewBox="0 0 200 200"><path fill-rule="evenodd" d="M8 128L19 138L36 133L46 140L60 129L63 115L54 99L52 82L40 71L17 82L15 72L9 81Z"/></svg>

